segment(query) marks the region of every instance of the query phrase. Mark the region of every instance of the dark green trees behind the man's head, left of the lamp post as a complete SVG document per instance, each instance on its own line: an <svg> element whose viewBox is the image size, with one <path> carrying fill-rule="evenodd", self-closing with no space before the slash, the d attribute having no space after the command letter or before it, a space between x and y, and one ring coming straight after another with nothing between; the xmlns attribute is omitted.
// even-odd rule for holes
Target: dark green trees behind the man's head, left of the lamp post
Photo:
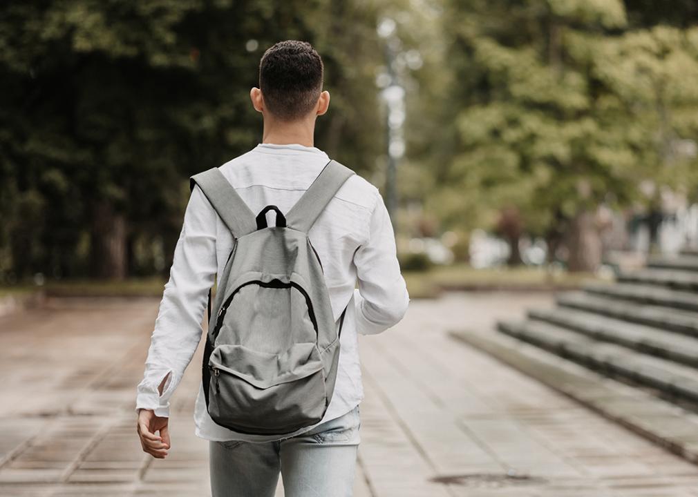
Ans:
<svg viewBox="0 0 698 497"><path fill-rule="evenodd" d="M318 146L359 171L381 146L375 6L34 0L0 13L0 273L167 268L186 178L260 141L248 91L276 41L308 40L325 60Z"/></svg>

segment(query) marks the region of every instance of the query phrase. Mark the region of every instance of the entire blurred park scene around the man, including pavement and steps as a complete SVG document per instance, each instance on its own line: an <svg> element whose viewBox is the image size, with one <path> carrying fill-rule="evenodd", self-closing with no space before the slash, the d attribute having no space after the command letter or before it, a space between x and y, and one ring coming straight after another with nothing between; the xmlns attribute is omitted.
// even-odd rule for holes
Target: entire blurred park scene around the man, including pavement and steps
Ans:
<svg viewBox="0 0 698 497"><path fill-rule="evenodd" d="M359 338L355 495L698 496L695 0L3 2L0 495L206 493L201 351L165 461L135 386L188 177L261 141L285 39L412 298Z"/></svg>

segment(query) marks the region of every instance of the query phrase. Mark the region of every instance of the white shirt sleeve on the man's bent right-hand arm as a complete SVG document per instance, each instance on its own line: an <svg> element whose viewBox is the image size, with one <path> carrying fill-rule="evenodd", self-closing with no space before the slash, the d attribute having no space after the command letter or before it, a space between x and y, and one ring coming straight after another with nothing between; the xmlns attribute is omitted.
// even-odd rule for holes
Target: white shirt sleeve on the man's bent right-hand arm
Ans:
<svg viewBox="0 0 698 497"><path fill-rule="evenodd" d="M354 301L357 332L376 335L398 323L407 312L410 296L400 273L395 234L378 190L366 243L354 254L359 282Z"/></svg>

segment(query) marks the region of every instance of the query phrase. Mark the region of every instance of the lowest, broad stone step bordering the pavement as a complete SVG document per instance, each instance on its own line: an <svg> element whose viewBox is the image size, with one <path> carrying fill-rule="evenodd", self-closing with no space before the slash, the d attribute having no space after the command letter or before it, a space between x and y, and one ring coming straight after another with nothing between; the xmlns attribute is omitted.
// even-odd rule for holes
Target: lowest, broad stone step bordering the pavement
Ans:
<svg viewBox="0 0 698 497"><path fill-rule="evenodd" d="M698 464L695 414L506 335L461 331L451 335Z"/></svg>

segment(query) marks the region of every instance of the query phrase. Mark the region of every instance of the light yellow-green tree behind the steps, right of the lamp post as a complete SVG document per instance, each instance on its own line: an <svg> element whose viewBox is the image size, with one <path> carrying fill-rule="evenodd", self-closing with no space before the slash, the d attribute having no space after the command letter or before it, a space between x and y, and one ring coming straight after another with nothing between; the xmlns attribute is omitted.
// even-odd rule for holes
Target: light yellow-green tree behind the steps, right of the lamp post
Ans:
<svg viewBox="0 0 698 497"><path fill-rule="evenodd" d="M444 18L459 136L443 218L464 206L494 227L515 210L565 244L570 269L595 269L597 206L630 204L641 181L676 186L695 165L671 152L697 136L694 30L632 26L620 0L453 0Z"/></svg>

